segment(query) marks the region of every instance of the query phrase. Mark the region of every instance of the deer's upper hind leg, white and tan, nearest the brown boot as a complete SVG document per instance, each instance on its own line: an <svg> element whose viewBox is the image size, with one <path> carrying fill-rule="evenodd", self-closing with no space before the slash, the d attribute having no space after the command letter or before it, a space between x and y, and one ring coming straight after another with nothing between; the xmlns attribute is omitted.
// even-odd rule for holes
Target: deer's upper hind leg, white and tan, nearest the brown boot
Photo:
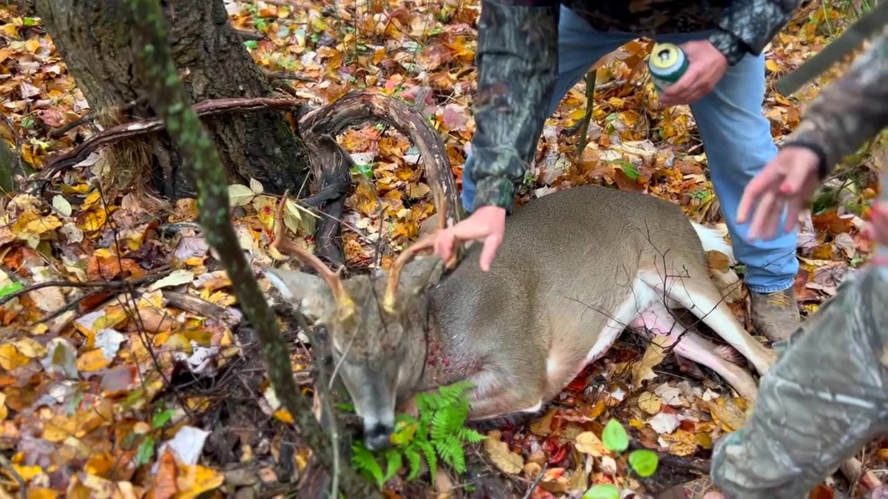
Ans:
<svg viewBox="0 0 888 499"><path fill-rule="evenodd" d="M662 284L662 276L655 272L642 279L647 285L665 291L667 297L699 317L728 345L752 362L760 375L765 376L777 361L776 352L757 342L743 329L708 276L671 279L666 286Z"/></svg>

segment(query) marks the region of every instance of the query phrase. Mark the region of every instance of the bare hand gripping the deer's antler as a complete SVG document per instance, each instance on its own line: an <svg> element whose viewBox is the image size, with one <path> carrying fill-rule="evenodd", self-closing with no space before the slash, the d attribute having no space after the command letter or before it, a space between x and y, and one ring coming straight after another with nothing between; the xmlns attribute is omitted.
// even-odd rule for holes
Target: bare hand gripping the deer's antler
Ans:
<svg viewBox="0 0 888 499"><path fill-rule="evenodd" d="M505 209L498 206L482 206L469 218L435 235L435 254L447 262L453 253L453 243L456 240L483 242L479 263L481 270L488 272L496 256L496 249L503 242L504 231Z"/></svg>

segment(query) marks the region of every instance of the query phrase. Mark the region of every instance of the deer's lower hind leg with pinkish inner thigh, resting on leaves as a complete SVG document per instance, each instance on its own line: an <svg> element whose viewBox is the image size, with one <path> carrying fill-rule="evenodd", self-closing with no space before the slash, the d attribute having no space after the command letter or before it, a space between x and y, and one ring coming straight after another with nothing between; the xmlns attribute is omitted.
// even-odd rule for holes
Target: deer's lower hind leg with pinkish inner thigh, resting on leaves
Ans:
<svg viewBox="0 0 888 499"><path fill-rule="evenodd" d="M662 301L654 302L647 307L644 313L630 323L630 326L644 327L655 335L670 337L669 345L675 345L674 352L678 355L717 372L746 400L750 402L756 400L758 388L752 376L737 364L722 357L716 345L682 326Z"/></svg>

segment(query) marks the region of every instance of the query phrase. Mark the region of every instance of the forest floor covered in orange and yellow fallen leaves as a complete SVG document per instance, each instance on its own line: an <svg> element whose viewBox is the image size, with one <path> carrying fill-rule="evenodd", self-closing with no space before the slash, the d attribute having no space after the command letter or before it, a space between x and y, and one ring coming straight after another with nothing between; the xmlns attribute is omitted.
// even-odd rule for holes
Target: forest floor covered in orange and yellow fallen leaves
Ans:
<svg viewBox="0 0 888 499"><path fill-rule="evenodd" d="M474 131L479 2L340 3L323 14L321 7L288 4L226 0L235 28L264 36L245 42L258 65L288 75L279 84L290 85L313 107L354 90L407 100L440 132L459 185ZM778 143L845 63L791 97L773 91L774 80L820 51L866 7L837 0L807 4L765 49L764 113ZM0 134L39 169L49 155L91 133L85 125L60 135L52 131L95 109L67 74L39 19L0 7L0 25ZM650 47L647 40L633 41L596 64L595 106L581 154L578 134L563 131L585 113L584 83L569 91L545 124L520 202L593 183L669 199L694 220L724 228L694 117L685 106L659 106L645 66ZM371 243L383 239L403 247L433 211L430 188L416 166L418 152L382 125L338 139L358 165L344 216L346 259L355 267L387 266L391 256L375 262ZM882 162L884 154L870 147L849 158L802 225L795 290L803 313L816 311L868 257L860 228L878 192ZM211 265L198 231L169 240L147 231L158 222L194 222L194 202L178 202L162 219L152 218L138 195L104 196L95 181L103 166L100 152L78 165L74 180L52 197L48 215L40 214L44 202L34 196L4 198L0 497L20 494L20 482L34 498L204 492L249 497L257 484L265 496L274 495L286 485L282 479L304 471L307 449L291 445L288 417L275 411L255 342L237 334L241 317L231 283L214 270L218 266ZM232 186L230 192L239 204L234 224L254 265L271 263L270 196L260 186ZM118 258L114 242L127 257ZM739 282L741 266L725 261L710 255L726 281ZM156 270L173 262L174 271ZM71 284L118 275L128 275L129 284ZM33 286L49 281L66 281L67 287ZM751 330L741 286L730 303ZM678 365L651 345L625 335L542 416L488 433L493 443L475 451L520 487L535 483L535 499L576 497L608 482L643 490L637 479L626 479L625 463L603 455L602 429L612 418L647 448L705 463L712 442L743 424L746 401L708 369ZM293 360L310 393L304 347L295 349ZM888 448L870 447L859 457L872 469L884 468ZM388 497L411 496L404 492L405 475L390 481ZM459 478L453 481L458 486ZM829 487L822 492L832 494Z"/></svg>

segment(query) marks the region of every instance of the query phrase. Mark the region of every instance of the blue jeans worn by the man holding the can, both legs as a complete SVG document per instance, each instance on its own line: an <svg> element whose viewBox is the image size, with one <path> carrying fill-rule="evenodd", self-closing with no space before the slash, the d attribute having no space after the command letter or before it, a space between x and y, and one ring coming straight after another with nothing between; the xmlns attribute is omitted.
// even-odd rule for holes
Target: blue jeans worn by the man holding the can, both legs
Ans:
<svg viewBox="0 0 888 499"><path fill-rule="evenodd" d="M683 44L705 39L707 35L707 32L662 35L657 41ZM631 33L597 31L562 7L559 78L549 104L549 115L592 63L635 38L638 36ZM788 289L798 272L795 228L790 233L781 232L771 241L747 242L749 224L737 223L743 188L777 154L771 125L762 115L764 99L765 55L747 54L735 66L728 67L713 91L691 105L709 159L712 184L731 234L734 255L746 266L747 287L758 293ZM473 210L475 198L475 186L469 175L472 164L470 154L463 170L462 193L463 206L469 212Z"/></svg>

